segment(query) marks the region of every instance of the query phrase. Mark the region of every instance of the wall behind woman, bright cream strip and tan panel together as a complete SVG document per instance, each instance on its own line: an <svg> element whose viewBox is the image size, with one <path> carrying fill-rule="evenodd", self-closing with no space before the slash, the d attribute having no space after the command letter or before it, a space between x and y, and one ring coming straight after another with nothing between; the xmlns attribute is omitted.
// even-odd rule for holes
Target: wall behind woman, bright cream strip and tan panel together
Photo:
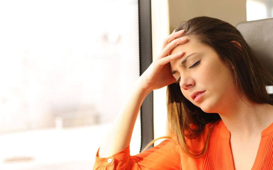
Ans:
<svg viewBox="0 0 273 170"><path fill-rule="evenodd" d="M246 21L246 0L151 0L153 59L181 21L208 16L236 26ZM154 139L167 135L166 87L153 91ZM166 128L165 128L166 125ZM164 139L157 140L154 146Z"/></svg>

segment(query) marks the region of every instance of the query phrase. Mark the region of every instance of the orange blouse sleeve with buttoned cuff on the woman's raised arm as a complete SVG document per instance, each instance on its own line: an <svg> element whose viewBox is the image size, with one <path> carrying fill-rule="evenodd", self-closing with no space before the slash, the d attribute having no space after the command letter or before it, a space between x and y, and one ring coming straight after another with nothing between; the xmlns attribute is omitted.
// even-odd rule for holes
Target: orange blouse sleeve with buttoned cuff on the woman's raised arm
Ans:
<svg viewBox="0 0 273 170"><path fill-rule="evenodd" d="M130 156L130 146L107 158L99 157L98 149L93 170L179 169L177 149L177 145L169 139L134 156Z"/></svg>

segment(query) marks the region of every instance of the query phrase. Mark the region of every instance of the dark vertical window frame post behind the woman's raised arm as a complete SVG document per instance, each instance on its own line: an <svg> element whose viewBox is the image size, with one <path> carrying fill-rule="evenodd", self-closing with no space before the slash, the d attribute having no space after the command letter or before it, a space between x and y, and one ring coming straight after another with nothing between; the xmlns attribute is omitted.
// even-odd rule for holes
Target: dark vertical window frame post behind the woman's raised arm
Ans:
<svg viewBox="0 0 273 170"><path fill-rule="evenodd" d="M140 75L153 62L151 1L139 0L139 50ZM153 91L144 99L140 107L141 147L140 152L153 140ZM148 147L150 149L154 145Z"/></svg>

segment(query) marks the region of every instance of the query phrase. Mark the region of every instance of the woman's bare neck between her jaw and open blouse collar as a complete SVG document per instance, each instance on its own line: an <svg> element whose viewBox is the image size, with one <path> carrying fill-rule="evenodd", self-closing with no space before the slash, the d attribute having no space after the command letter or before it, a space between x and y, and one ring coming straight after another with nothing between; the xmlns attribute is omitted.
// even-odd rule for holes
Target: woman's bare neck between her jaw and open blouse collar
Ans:
<svg viewBox="0 0 273 170"><path fill-rule="evenodd" d="M223 108L224 111L218 113L232 138L249 140L261 137L262 130L273 122L273 106L253 104L241 98L234 101L234 107Z"/></svg>

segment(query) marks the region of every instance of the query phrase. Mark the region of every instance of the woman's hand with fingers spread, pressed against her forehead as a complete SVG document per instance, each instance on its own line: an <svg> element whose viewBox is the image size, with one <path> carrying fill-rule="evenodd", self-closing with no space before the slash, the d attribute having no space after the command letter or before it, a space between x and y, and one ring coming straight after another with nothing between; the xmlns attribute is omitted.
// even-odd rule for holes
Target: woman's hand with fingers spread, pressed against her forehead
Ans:
<svg viewBox="0 0 273 170"><path fill-rule="evenodd" d="M170 61L180 58L183 56L184 52L172 55L169 55L169 53L178 44L184 44L187 42L187 37L184 37L185 39L179 38L183 34L184 30L177 32L174 30L172 34L163 40L160 54L139 77L141 87L144 90L150 92L177 82L171 74Z"/></svg>

